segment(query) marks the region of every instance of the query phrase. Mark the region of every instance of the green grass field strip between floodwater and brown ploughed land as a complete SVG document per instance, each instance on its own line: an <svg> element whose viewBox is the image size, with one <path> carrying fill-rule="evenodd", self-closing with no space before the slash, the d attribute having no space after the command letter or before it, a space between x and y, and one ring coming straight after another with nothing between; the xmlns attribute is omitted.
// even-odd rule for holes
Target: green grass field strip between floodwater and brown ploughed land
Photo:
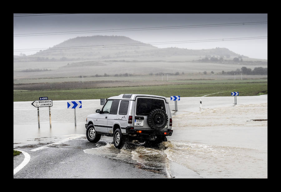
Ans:
<svg viewBox="0 0 281 192"><path fill-rule="evenodd" d="M254 96L267 94L267 80L201 80L186 82L180 85L158 85L158 86L132 86L111 88L84 88L67 90L45 90L45 91L21 91L14 90L13 101L34 101L39 97L48 97L52 100L82 100L101 99L123 93L152 94L170 97L201 97L201 96L230 96L231 92L239 92L239 96Z"/></svg>

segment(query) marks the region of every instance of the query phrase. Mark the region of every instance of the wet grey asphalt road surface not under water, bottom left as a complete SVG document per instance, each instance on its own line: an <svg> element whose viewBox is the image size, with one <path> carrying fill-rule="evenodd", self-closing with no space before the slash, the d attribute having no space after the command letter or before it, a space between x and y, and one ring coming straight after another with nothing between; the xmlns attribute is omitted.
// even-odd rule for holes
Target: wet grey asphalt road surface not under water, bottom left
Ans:
<svg viewBox="0 0 281 192"><path fill-rule="evenodd" d="M106 143L105 143L106 144ZM84 153L83 149L95 148L85 137L72 139L46 149L30 151L34 148L17 148L30 155L30 161L14 174L15 179L52 178L167 178L167 175L137 168L134 164L124 163ZM24 155L14 157L14 168L24 159Z"/></svg>

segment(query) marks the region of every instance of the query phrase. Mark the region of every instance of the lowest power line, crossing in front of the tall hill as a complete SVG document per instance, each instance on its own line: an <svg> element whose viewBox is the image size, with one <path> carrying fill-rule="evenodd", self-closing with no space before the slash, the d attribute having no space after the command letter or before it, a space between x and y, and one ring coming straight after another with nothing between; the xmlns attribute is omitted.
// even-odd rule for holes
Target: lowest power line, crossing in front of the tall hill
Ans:
<svg viewBox="0 0 281 192"><path fill-rule="evenodd" d="M46 50L63 50L63 49L81 49L81 48L112 48L112 47L127 47L127 46L143 46L143 45L163 45L163 44L179 44L179 43L205 43L216 41L236 41L236 40L252 40L252 39L266 39L267 36L259 37L243 37L243 38L221 38L221 39L202 39L202 40L187 40L187 41L167 41L167 42L153 42L153 43L128 43L128 44L112 44L112 45L90 45L90 46L76 46L76 47L58 47L58 48L33 48L31 49L15 49L14 52L22 51L39 51Z"/></svg>

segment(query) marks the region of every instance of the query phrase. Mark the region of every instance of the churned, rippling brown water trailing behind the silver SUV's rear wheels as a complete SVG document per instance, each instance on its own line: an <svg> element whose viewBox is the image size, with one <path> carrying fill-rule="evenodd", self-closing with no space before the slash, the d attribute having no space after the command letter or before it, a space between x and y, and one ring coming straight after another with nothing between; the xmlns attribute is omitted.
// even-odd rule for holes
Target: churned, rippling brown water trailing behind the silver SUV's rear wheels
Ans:
<svg viewBox="0 0 281 192"><path fill-rule="evenodd" d="M121 160L167 177L170 176L170 161L195 171L202 178L267 177L267 153L256 149L171 140L153 148L145 144L127 144L122 149L116 149L112 143L106 143L97 148L84 149L84 152Z"/></svg>

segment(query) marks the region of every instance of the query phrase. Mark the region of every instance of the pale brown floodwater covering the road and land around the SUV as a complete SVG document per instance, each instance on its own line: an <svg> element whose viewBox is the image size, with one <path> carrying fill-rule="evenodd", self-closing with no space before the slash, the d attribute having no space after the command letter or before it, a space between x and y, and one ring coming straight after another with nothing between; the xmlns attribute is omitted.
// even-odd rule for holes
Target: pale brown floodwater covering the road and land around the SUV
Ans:
<svg viewBox="0 0 281 192"><path fill-rule="evenodd" d="M49 109L42 107L38 129L37 108L32 102L13 102L14 148L85 134L86 116L101 109L100 100L82 100L82 108L76 109L75 127L74 111L67 109L67 101L53 101L52 128ZM83 151L167 178L180 175L179 167L191 171L187 178L267 178L267 95L239 96L237 104L233 103L234 97L180 98L178 111L172 111L174 133L167 142L149 146L134 141L116 149L112 137L102 137L96 148ZM172 101L170 109L175 109Z"/></svg>

